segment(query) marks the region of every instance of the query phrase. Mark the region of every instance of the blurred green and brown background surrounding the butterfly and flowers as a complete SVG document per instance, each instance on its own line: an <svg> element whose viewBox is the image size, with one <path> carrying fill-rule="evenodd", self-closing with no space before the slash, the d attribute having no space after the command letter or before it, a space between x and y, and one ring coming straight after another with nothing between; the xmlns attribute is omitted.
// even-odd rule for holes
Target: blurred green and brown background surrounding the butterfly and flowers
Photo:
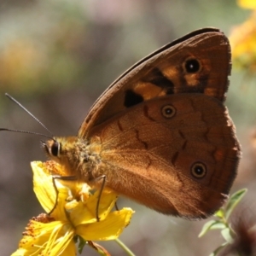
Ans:
<svg viewBox="0 0 256 256"><path fill-rule="evenodd" d="M0 127L43 132L5 96L9 92L57 136L75 135L92 103L120 73L185 33L215 26L227 35L250 11L234 0L1 0ZM255 194L255 79L232 72L227 105L243 148L232 191ZM0 133L0 248L9 255L32 216L43 212L33 191L32 160L45 160L41 137ZM136 214L120 239L137 255L208 255L222 242L218 231L197 238L205 221L161 215L119 199ZM250 211L254 211L250 203ZM125 255L114 241L102 242ZM90 247L82 255L97 255Z"/></svg>

